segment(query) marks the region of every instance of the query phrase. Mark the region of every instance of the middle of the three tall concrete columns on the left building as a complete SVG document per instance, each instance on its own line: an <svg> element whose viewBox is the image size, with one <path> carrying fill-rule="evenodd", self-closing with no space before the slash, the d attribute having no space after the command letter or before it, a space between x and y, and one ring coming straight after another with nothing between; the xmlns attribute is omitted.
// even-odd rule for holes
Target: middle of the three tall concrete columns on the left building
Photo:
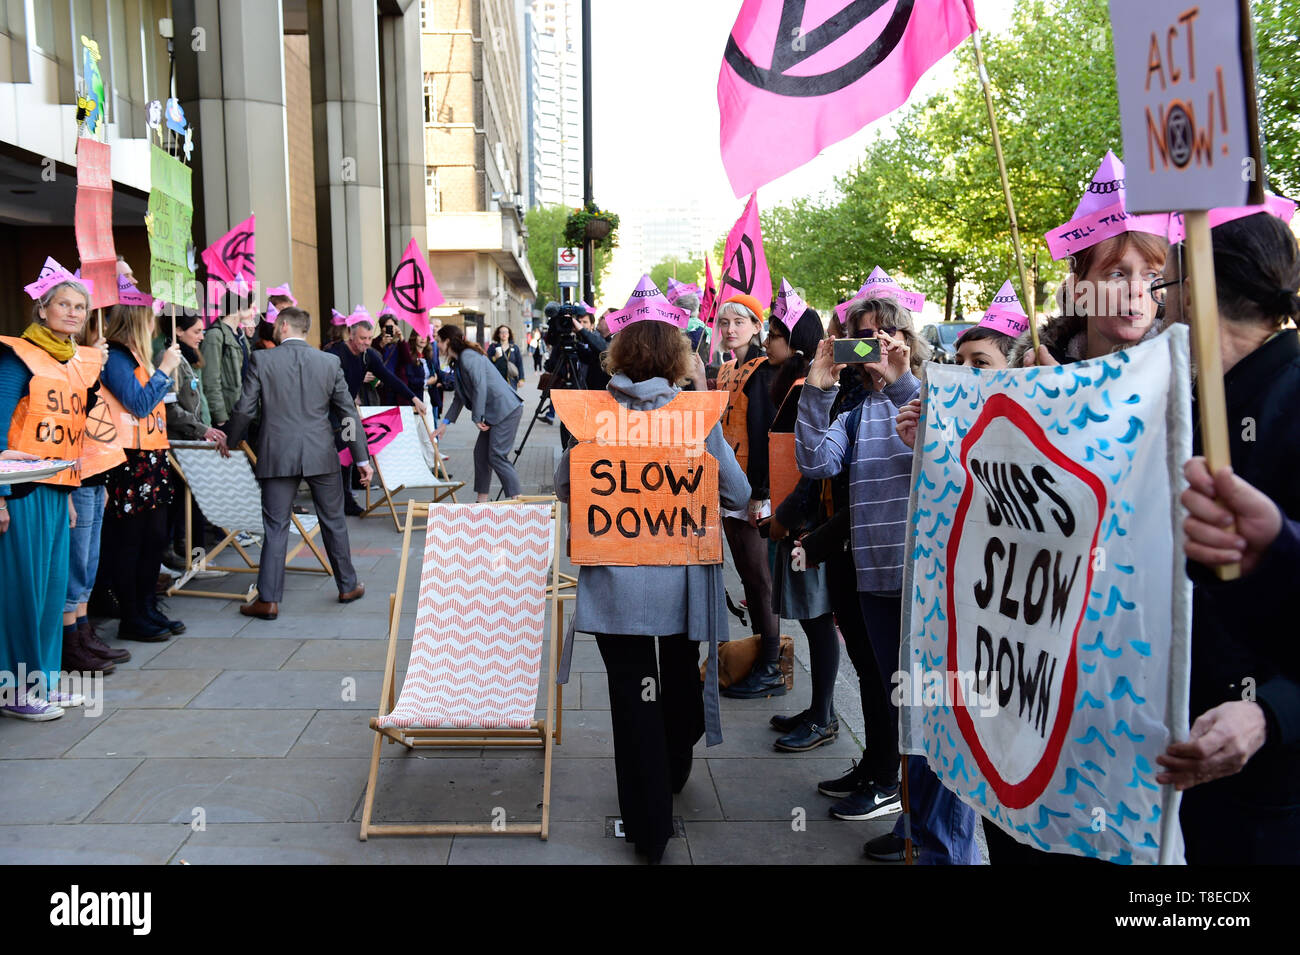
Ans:
<svg viewBox="0 0 1300 955"><path fill-rule="evenodd" d="M387 282L376 5L308 0L307 17L321 301L373 313Z"/></svg>

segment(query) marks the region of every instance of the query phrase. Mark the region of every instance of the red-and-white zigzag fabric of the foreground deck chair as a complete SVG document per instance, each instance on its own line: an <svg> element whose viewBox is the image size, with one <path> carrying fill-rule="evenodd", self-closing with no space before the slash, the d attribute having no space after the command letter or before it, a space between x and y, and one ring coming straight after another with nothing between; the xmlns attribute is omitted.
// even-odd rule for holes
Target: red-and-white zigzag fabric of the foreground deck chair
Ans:
<svg viewBox="0 0 1300 955"><path fill-rule="evenodd" d="M552 551L550 507L429 508L411 660L377 725L530 726Z"/></svg>

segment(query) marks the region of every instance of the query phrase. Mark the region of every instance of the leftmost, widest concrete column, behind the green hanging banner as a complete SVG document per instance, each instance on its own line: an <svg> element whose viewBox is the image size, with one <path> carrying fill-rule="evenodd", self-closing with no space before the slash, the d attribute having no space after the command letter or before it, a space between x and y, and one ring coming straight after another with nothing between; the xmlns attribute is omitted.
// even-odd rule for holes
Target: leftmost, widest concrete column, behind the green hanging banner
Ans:
<svg viewBox="0 0 1300 955"><path fill-rule="evenodd" d="M173 0L172 10L177 95L195 127L194 242L203 248L256 212L257 281L263 288L287 282L292 243L281 5Z"/></svg>

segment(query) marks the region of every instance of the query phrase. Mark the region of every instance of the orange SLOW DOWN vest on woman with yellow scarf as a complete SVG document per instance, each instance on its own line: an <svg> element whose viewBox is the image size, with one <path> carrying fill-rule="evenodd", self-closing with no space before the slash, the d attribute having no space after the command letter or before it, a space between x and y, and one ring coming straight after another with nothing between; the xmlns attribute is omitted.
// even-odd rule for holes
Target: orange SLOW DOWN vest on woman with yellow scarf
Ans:
<svg viewBox="0 0 1300 955"><path fill-rule="evenodd" d="M27 394L18 399L9 421L9 448L64 461L79 459L86 401L98 376L90 374L87 364L58 361L25 338L0 337L0 342L31 372ZM78 353L81 351L87 350L78 350ZM68 468L40 483L78 487L79 469Z"/></svg>

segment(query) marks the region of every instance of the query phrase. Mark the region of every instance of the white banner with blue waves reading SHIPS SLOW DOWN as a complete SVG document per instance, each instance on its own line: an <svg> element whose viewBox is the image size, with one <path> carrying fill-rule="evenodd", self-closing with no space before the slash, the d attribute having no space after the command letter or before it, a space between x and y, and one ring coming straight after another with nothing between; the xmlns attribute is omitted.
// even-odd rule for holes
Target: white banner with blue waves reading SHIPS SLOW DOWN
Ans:
<svg viewBox="0 0 1300 955"><path fill-rule="evenodd" d="M904 752L1020 842L1179 863L1187 329L1043 369L927 366L907 522Z"/></svg>

